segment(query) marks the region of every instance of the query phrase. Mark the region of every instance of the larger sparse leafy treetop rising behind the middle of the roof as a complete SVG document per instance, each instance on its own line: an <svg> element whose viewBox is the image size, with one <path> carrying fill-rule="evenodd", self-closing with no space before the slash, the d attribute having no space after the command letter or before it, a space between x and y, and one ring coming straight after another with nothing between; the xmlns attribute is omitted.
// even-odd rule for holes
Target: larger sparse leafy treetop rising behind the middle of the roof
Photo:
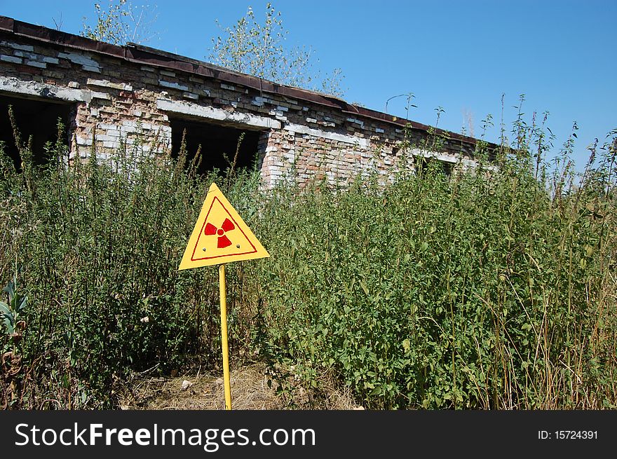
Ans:
<svg viewBox="0 0 617 459"><path fill-rule="evenodd" d="M341 96L341 69L320 77L314 69L313 50L305 47L287 48L284 41L289 32L283 27L280 11L266 4L263 22L255 19L249 6L246 15L232 27L223 28L223 36L212 39L208 57L213 64L266 78L284 85ZM318 62L318 60L317 60Z"/></svg>

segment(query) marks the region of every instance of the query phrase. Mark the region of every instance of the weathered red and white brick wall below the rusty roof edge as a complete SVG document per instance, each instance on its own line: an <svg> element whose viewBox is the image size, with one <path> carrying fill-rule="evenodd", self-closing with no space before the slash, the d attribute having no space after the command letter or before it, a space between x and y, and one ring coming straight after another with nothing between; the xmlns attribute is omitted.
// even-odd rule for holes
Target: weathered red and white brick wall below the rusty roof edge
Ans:
<svg viewBox="0 0 617 459"><path fill-rule="evenodd" d="M220 78L210 78L152 67L147 61L122 60L95 50L77 50L64 43L50 44L36 37L23 43L25 40L0 30L4 50L0 60L26 64L1 66L0 90L5 89L6 78L17 78L27 87L42 75L46 84L53 85L50 88L83 94L86 102L69 121L76 135L75 158L88 155L93 129L100 146L109 149L105 153L109 156L120 139L134 144L137 132L147 139L153 139L157 132L170 139L169 120L177 116L262 129L257 144L258 167L269 186L283 178L291 163L297 166L301 181L322 174L326 179L344 182L371 170L386 174L388 167L426 153L395 148L404 139L401 124L355 114L353 107L346 111L344 106L341 110L311 102L311 97L287 97L276 90L262 92L241 85L235 76L226 80L224 72L218 74ZM36 53L31 43L36 43ZM53 69L45 68L52 65ZM426 137L421 130L414 130L412 135L416 143ZM444 151L435 154L439 160L450 161L470 151L473 144L461 148L456 140L445 142Z"/></svg>

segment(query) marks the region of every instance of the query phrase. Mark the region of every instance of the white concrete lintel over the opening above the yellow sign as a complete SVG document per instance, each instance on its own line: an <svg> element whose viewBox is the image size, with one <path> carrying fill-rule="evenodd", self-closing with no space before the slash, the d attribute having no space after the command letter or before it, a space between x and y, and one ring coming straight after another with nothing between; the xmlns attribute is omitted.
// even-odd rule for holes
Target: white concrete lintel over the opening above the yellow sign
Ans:
<svg viewBox="0 0 617 459"><path fill-rule="evenodd" d="M177 114L198 116L199 118L208 118L227 123L248 125L255 128L280 129L280 122L273 120L272 118L242 113L239 111L226 111L216 107L203 107L191 102L158 99L156 101L156 108L163 111L171 111Z"/></svg>

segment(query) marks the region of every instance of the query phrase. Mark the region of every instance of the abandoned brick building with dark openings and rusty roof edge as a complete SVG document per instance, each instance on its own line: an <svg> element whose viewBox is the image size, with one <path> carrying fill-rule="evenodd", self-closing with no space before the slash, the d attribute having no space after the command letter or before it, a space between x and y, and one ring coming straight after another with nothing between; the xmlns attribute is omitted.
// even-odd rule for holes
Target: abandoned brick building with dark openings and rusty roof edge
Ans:
<svg viewBox="0 0 617 459"><path fill-rule="evenodd" d="M222 168L223 154L233 156L245 132L238 164L258 167L265 186L292 169L300 182L386 174L401 161L413 167L414 156L435 158L447 170L475 165L471 137L448 132L440 151L407 147L406 138L421 144L430 128L161 50L0 16L0 141L11 151L9 104L24 134L35 134L36 151L55 139L62 118L72 158L86 158L93 139L97 155L110 158L137 136L144 149L158 150L152 154L177 154L186 130L189 152L202 146L201 167ZM160 142L149 142L155 138Z"/></svg>

